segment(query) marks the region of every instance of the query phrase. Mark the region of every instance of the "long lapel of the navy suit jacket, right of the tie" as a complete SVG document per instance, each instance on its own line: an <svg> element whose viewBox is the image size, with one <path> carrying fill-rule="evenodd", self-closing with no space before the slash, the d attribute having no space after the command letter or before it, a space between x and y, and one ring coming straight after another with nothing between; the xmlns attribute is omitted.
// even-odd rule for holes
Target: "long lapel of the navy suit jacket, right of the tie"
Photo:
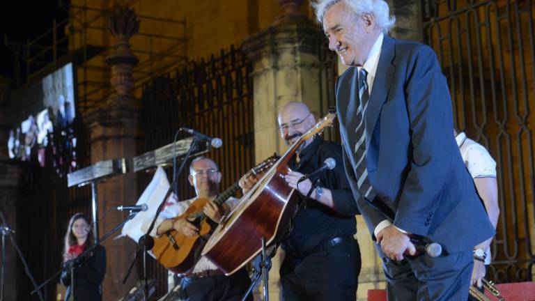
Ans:
<svg viewBox="0 0 535 301"><path fill-rule="evenodd" d="M369 149L373 128L375 128L382 105L387 100L390 90L392 75L395 70L395 66L391 63L394 60L394 55L394 40L385 35L382 40L381 54L373 81L368 109L366 109L366 149Z"/></svg>

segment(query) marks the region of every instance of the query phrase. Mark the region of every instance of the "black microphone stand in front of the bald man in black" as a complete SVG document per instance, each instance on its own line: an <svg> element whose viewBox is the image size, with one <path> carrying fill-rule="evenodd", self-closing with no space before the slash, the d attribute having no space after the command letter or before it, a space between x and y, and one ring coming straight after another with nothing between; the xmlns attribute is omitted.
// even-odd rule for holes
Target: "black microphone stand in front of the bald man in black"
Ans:
<svg viewBox="0 0 535 301"><path fill-rule="evenodd" d="M299 183L301 183L303 180L306 180L306 179L307 178L303 177L299 181L297 181L297 186L299 186ZM293 217L290 219L290 222L288 222L288 226L286 226L286 229L284 229L284 232L283 232L284 234L281 235L280 238L273 243L274 247L272 249L271 254L267 254L267 248L265 246L265 238L262 238L261 260L260 260L260 263L258 264L258 268L256 268L256 266L253 264L253 267L254 267L253 281L251 281L251 284L249 285L249 288L247 288L245 295L242 296L241 301L247 300L247 296L249 295L249 293L251 293L253 288L258 284L258 281L260 281L262 276L263 276L263 281L264 281L264 301L270 300L269 293L268 293L268 286L269 286L269 279L270 279L269 275L270 275L270 270L271 270L271 265L272 265L271 259L273 258L273 256L275 256L275 254L277 254L277 249L281 245L281 242L284 240L284 238L286 238L286 236L288 236L288 234L290 234L290 232L293 230L293 224L295 222L295 219L297 218L297 216L299 216L302 213L302 210L304 210L304 208L307 208L307 203L311 199L310 196L312 192L316 189L316 187L318 187L319 184L320 184L320 178L316 178L316 180L312 182L312 186L310 187L309 192L307 192L307 195L304 197L303 201L297 205L297 209L295 210ZM256 258L258 258L258 256Z"/></svg>

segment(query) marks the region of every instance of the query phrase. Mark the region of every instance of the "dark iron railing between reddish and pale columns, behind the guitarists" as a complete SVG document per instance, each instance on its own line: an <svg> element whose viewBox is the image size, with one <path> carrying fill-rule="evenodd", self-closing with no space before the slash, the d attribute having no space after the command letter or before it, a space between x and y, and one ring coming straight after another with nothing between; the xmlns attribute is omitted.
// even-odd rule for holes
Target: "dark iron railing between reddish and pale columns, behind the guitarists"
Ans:
<svg viewBox="0 0 535 301"><path fill-rule="evenodd" d="M207 154L223 173L222 190L238 180L255 163L250 73L249 61L240 49L231 47L146 84L141 98L139 153L170 144L180 127L194 128L223 141L222 148ZM181 200L194 196L188 173L186 169L178 179ZM151 176L139 175L140 190ZM168 176L171 181L170 172ZM150 268L157 275L157 293L162 295L166 271L154 262Z"/></svg>

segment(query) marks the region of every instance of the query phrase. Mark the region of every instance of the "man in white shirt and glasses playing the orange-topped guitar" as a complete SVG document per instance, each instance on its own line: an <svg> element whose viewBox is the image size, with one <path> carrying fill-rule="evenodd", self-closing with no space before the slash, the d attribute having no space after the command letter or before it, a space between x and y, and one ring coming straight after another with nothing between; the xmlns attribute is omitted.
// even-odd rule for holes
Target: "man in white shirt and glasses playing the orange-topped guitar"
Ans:
<svg viewBox="0 0 535 301"><path fill-rule="evenodd" d="M219 193L221 177L219 167L210 158L197 157L193 160L189 166L188 179L195 188L196 197L167 206L158 216L155 230L151 235L159 237L174 229L185 236L196 236L199 233L198 226L187 219L176 217L182 215L196 199L201 198L210 200L203 208L203 213L210 219L209 222L219 223L224 213L238 202L238 199L231 197L223 206L217 206L213 201ZM226 277L213 263L201 257L192 272L183 275L180 285L185 293L184 300L240 300L250 282L245 269ZM252 300L251 295L248 296L248 300Z"/></svg>

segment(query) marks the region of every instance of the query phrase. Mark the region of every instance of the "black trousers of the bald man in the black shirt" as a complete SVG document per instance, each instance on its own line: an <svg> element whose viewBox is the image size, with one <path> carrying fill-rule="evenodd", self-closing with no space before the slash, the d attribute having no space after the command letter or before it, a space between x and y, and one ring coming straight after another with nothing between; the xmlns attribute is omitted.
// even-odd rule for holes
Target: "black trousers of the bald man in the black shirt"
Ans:
<svg viewBox="0 0 535 301"><path fill-rule="evenodd" d="M360 249L356 240L304 258L287 253L280 270L282 295L285 301L354 301L360 268Z"/></svg>

